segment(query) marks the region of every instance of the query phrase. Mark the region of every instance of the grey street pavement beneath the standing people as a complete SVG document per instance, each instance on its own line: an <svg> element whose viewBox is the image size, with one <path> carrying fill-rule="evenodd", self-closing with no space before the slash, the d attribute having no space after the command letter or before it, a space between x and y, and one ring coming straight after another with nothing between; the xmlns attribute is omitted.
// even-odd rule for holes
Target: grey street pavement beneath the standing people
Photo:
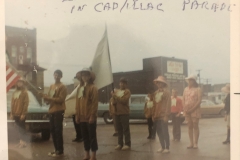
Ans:
<svg viewBox="0 0 240 160"><path fill-rule="evenodd" d="M132 147L130 151L116 151L117 137L113 137L113 126L104 124L98 119L97 138L99 150L98 160L230 160L230 145L223 145L226 139L226 123L223 118L204 118L200 120L199 149L187 149L189 144L187 125L182 124L182 138L179 142L171 141L170 153L161 154L156 151L160 148L158 138L148 140L146 121L130 121ZM172 139L172 125L169 125L170 140ZM75 137L73 123L70 119L64 120L64 156L59 160L83 159L83 143L73 143ZM42 141L40 135L31 135L31 142L27 148L19 149L17 132L12 129L8 132L9 160L52 160L47 153L53 151L53 143Z"/></svg>

